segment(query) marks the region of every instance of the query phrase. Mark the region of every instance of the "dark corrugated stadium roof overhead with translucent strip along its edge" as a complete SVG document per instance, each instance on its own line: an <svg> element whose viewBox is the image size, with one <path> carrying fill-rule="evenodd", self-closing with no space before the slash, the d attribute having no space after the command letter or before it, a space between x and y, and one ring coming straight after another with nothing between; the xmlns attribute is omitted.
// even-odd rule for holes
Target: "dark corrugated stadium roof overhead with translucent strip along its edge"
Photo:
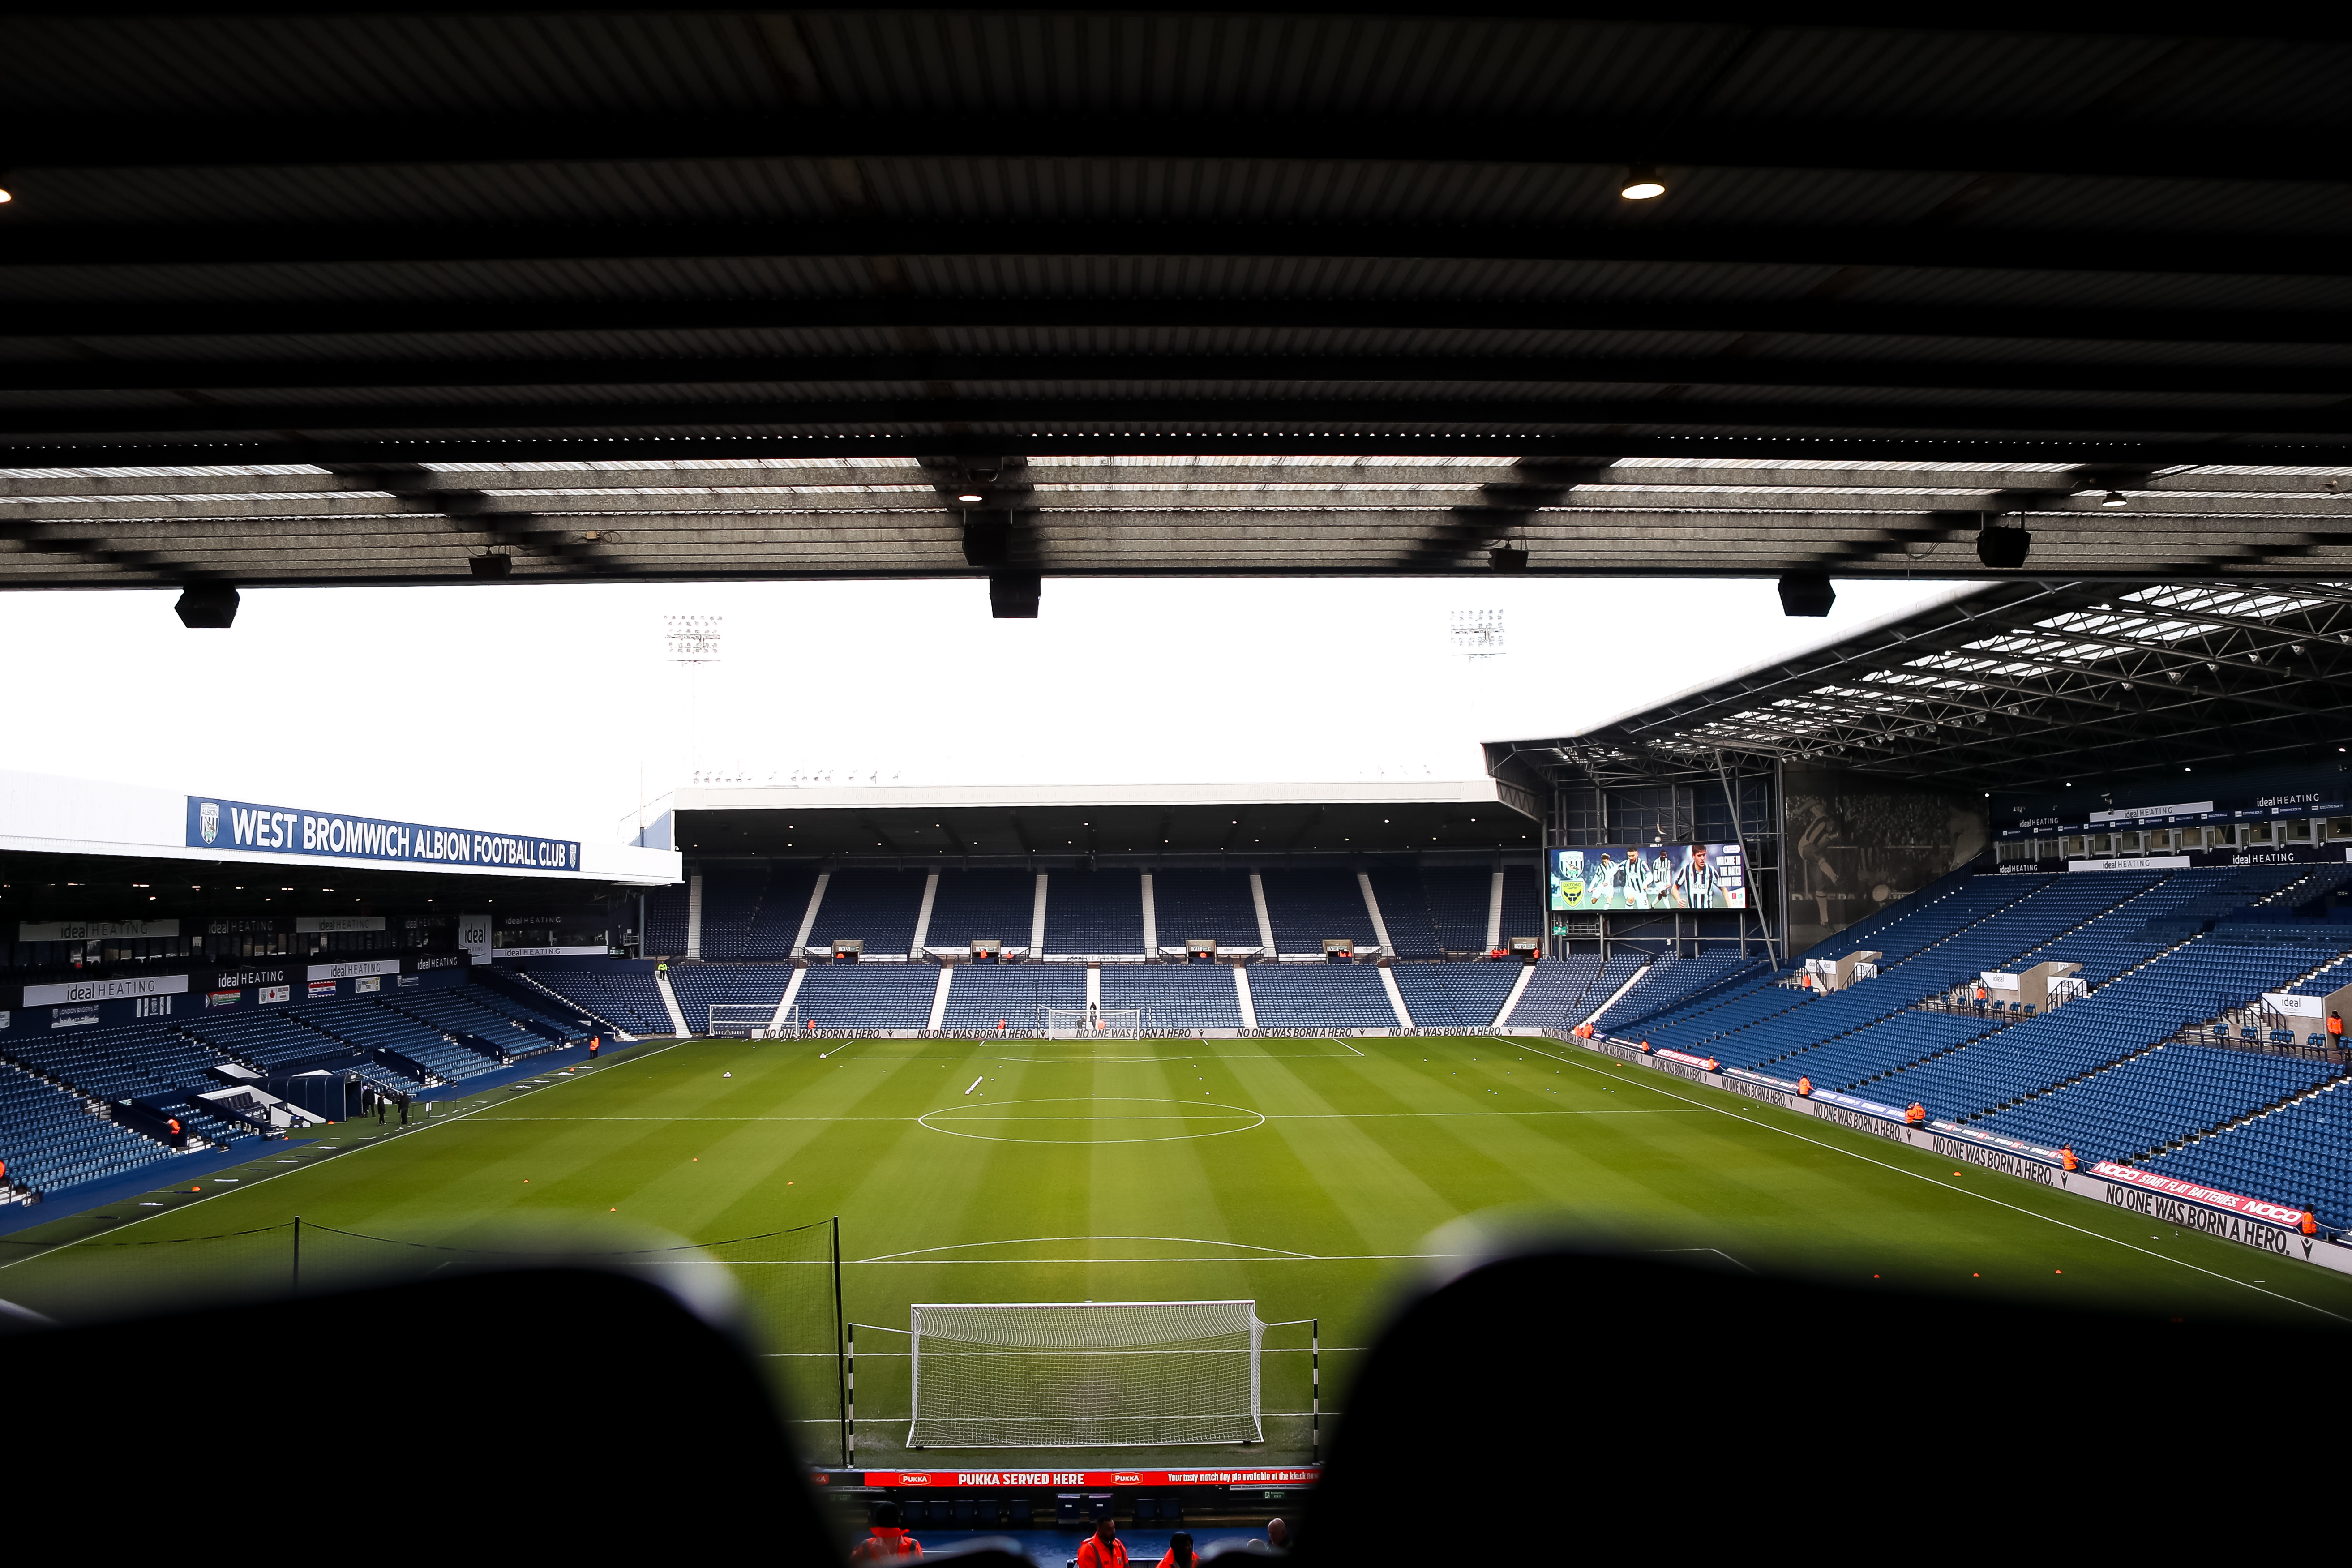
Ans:
<svg viewBox="0 0 2352 1568"><path fill-rule="evenodd" d="M2194 24L14 7L0 585L2347 574L2352 28Z"/></svg>

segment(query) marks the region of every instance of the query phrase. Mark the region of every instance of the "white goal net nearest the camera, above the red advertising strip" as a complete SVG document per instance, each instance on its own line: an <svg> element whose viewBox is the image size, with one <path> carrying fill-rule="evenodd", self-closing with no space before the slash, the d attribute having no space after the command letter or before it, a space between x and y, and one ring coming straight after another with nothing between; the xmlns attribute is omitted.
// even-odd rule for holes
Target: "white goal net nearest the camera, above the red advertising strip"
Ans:
<svg viewBox="0 0 2352 1568"><path fill-rule="evenodd" d="M1258 1302L917 1305L910 1448L1256 1443Z"/></svg>

